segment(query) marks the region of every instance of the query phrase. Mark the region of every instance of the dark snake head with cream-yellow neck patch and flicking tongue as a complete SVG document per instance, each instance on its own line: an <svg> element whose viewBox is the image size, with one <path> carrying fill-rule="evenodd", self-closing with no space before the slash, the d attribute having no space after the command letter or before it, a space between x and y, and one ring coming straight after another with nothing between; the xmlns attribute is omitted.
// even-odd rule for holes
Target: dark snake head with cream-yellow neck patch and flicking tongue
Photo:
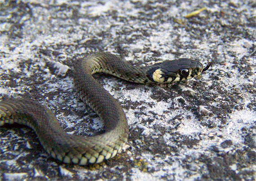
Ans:
<svg viewBox="0 0 256 181"><path fill-rule="evenodd" d="M182 58L179 60L165 60L154 65L156 66L149 71L151 73L151 77L148 74L149 79L152 82L167 83L194 78L209 69L211 63L208 61L207 66L203 68L199 61Z"/></svg>

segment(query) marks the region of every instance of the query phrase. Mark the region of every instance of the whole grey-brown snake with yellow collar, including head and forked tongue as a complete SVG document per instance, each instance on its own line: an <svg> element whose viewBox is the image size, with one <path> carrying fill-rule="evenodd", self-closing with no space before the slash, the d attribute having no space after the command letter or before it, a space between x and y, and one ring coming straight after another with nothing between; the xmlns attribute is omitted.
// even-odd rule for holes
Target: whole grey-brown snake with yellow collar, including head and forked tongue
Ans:
<svg viewBox="0 0 256 181"><path fill-rule="evenodd" d="M179 59L137 67L110 53L94 53L74 64L74 85L79 98L104 121L104 134L66 134L49 108L31 99L2 100L1 126L18 123L31 127L44 150L64 163L100 163L122 150L128 139L128 121L119 102L95 81L93 73L108 73L130 82L163 83L193 78L209 66L203 69L203 65L196 60Z"/></svg>

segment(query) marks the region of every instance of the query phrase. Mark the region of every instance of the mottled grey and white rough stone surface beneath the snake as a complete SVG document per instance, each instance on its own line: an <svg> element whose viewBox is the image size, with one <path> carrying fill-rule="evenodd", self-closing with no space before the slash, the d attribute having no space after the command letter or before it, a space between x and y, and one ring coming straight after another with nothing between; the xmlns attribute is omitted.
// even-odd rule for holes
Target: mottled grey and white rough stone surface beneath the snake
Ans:
<svg viewBox="0 0 256 181"><path fill-rule="evenodd" d="M70 134L103 129L74 94L78 57L214 62L201 78L171 85L96 75L129 124L125 150L102 164L59 163L31 129L1 127L1 180L255 180L255 8L255 0L1 2L0 96L37 99Z"/></svg>

